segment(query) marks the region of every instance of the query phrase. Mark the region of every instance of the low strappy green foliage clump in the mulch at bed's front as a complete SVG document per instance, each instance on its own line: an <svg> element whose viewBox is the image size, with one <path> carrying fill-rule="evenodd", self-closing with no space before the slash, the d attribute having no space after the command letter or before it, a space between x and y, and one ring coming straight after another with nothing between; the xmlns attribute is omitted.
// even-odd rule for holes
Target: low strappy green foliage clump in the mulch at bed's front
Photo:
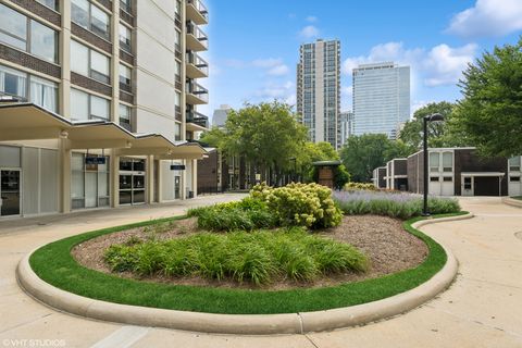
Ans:
<svg viewBox="0 0 522 348"><path fill-rule="evenodd" d="M104 259L114 272L228 278L257 285L283 278L309 282L320 275L368 269L366 258L352 246L310 235L302 227L199 233L166 241L113 245Z"/></svg>

